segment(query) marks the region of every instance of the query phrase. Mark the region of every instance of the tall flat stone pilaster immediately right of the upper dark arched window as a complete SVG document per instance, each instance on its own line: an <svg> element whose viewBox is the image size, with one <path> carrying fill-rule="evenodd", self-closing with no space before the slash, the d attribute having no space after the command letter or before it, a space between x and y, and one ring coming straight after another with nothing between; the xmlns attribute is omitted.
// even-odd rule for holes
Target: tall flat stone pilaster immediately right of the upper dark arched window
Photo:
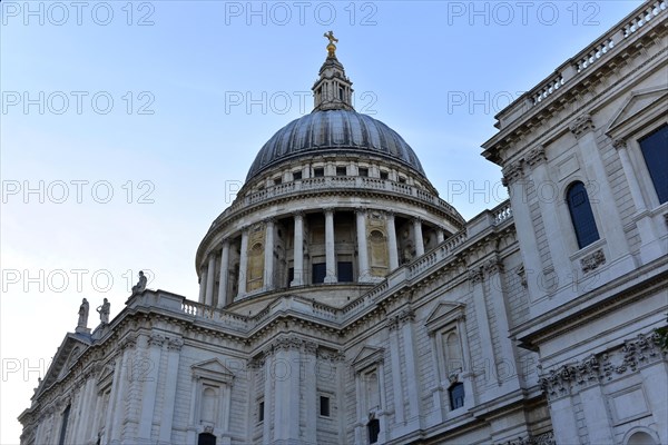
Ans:
<svg viewBox="0 0 668 445"><path fill-rule="evenodd" d="M598 182L598 196L590 195L589 201L592 207L603 209L606 207L608 211L599 212L599 220L601 227L601 237L606 237L608 251L612 261L625 256L629 253L626 235L621 225L621 218L617 208L615 196L608 180L608 174L606 166L601 159L598 145L596 144L596 136L593 134L593 122L591 116L582 115L578 117L570 126L569 129L578 140L578 148L580 155L584 160L584 170L587 177ZM588 189L589 190L589 189Z"/></svg>

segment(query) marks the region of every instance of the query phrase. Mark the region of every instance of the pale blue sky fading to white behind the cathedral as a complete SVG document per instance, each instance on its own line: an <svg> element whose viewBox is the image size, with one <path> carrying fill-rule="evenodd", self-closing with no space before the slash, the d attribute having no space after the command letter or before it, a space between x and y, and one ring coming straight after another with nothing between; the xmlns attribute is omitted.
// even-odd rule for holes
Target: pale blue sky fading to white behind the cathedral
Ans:
<svg viewBox="0 0 668 445"><path fill-rule="evenodd" d="M311 112L323 33L355 105L470 219L505 199L493 116L640 1L2 1L0 444L81 298L197 299L195 251L263 144Z"/></svg>

